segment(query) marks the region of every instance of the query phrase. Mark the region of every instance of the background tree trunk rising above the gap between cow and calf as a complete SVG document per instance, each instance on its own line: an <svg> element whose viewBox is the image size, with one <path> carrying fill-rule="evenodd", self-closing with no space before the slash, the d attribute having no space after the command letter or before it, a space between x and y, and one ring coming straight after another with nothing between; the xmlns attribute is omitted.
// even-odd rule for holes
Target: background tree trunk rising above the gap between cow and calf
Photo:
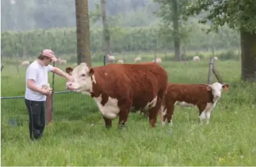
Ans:
<svg viewBox="0 0 256 167"><path fill-rule="evenodd" d="M178 13L178 2L172 0L173 4L173 26L174 26L174 49L175 49L175 60L180 61L180 35L179 35L179 13Z"/></svg>

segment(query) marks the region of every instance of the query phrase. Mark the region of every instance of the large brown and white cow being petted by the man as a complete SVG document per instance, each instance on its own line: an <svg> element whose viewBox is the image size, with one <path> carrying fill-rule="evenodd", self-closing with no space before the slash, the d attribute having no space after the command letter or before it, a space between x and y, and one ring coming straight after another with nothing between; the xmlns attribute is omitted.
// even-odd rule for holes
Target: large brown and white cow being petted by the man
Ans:
<svg viewBox="0 0 256 167"><path fill-rule="evenodd" d="M157 112L167 88L167 71L157 63L116 64L89 68L81 63L68 67L74 81L66 88L89 94L97 103L106 127L112 127L112 119L119 115L119 127L126 123L129 111L146 109L149 123L155 127Z"/></svg>

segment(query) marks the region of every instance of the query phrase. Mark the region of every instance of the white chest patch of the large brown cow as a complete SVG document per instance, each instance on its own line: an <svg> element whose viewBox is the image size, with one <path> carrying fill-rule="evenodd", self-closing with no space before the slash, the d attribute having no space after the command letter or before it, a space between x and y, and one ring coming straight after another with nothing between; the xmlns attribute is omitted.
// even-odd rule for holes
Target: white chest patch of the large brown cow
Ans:
<svg viewBox="0 0 256 167"><path fill-rule="evenodd" d="M119 114L120 109L117 106L117 99L108 97L107 102L106 104L104 104L104 106L102 106L101 104L101 95L99 97L94 97L94 100L96 101L97 106L99 107L99 110L101 111L103 117L107 119L114 119Z"/></svg>

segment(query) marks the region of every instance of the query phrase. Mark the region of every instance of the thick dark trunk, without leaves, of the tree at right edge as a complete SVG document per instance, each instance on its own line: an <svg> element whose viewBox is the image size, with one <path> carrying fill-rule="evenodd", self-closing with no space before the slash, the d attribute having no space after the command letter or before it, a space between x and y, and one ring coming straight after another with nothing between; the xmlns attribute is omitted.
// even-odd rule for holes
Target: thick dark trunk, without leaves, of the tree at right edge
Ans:
<svg viewBox="0 0 256 167"><path fill-rule="evenodd" d="M240 31L241 42L241 79L256 81L256 34Z"/></svg>

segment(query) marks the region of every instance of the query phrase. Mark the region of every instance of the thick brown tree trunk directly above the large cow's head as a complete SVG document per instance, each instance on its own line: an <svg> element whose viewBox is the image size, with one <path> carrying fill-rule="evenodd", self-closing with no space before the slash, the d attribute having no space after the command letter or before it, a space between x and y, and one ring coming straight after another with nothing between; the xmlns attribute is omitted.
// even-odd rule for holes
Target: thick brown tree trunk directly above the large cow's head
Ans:
<svg viewBox="0 0 256 167"><path fill-rule="evenodd" d="M77 65L82 62L92 66L90 27L87 0L76 0Z"/></svg>

